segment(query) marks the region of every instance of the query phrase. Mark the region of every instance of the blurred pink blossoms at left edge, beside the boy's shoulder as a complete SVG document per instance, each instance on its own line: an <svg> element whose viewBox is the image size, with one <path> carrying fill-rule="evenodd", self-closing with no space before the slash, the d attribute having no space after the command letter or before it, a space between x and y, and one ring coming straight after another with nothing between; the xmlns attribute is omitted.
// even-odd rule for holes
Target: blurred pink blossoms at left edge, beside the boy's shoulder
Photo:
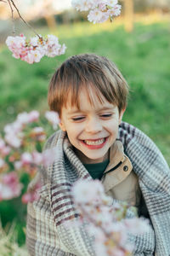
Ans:
<svg viewBox="0 0 170 256"><path fill-rule="evenodd" d="M48 120L52 130L58 128L58 113L47 111L43 118L43 123ZM13 123L5 125L0 137L0 201L20 196L24 187L20 183L23 173L31 180L40 166L54 162L54 149L42 152L42 143L47 135L41 125L40 113L36 110L19 113ZM37 183L34 191L22 196L22 201L35 200L39 187Z"/></svg>

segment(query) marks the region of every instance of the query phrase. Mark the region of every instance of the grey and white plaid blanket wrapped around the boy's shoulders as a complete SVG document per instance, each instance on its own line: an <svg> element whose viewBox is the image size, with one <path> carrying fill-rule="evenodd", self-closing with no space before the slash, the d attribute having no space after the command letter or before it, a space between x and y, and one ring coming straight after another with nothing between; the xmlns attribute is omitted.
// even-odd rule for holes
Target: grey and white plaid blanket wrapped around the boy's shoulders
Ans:
<svg viewBox="0 0 170 256"><path fill-rule="evenodd" d="M149 137L125 122L117 139L139 177L139 186L150 213L150 230L130 235L133 255L170 255L170 170L161 152ZM46 148L55 148L56 160L37 174L42 180L40 199L28 204L26 242L30 255L93 256L94 237L88 236L86 223L81 227L65 227L64 221L78 218L71 197L71 185L77 178L91 180L88 171L74 154L65 132L57 131L48 139ZM133 217L129 211L128 218ZM153 226L153 229L152 229Z"/></svg>

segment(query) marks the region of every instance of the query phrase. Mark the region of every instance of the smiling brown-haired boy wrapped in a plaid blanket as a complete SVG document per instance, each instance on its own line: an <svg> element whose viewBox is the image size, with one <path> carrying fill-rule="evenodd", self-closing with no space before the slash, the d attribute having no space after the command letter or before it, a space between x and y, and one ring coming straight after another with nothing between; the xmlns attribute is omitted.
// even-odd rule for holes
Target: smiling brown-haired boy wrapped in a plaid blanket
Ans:
<svg viewBox="0 0 170 256"><path fill-rule="evenodd" d="M48 139L57 159L37 175L40 199L28 204L27 246L31 255L94 255L94 238L78 218L71 185L98 178L113 200L127 201L150 230L130 236L134 255L170 255L170 172L155 144L122 122L128 85L117 67L98 55L75 55L54 73L48 104L59 113L60 131ZM133 212L130 212L133 217Z"/></svg>

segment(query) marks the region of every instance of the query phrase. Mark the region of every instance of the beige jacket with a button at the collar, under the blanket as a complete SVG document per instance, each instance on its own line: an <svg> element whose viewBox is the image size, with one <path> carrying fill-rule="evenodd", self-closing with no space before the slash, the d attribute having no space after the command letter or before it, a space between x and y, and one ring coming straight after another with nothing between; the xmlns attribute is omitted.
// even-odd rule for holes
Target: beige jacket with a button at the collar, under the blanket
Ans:
<svg viewBox="0 0 170 256"><path fill-rule="evenodd" d="M141 199L139 179L133 172L131 161L124 154L120 141L116 141L110 149L110 163L101 182L107 195L117 200L127 201L133 207L139 207Z"/></svg>

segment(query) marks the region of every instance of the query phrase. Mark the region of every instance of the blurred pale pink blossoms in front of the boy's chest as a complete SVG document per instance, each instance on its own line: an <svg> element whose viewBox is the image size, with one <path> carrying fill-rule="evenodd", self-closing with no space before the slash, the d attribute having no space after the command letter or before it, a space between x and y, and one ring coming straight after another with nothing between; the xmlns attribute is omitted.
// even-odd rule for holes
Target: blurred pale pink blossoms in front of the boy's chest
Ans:
<svg viewBox="0 0 170 256"><path fill-rule="evenodd" d="M88 223L88 232L95 237L96 255L132 255L133 245L127 241L127 234L143 233L148 229L147 223L140 218L125 218L127 204L105 195L99 180L77 181L72 195L81 221Z"/></svg>

